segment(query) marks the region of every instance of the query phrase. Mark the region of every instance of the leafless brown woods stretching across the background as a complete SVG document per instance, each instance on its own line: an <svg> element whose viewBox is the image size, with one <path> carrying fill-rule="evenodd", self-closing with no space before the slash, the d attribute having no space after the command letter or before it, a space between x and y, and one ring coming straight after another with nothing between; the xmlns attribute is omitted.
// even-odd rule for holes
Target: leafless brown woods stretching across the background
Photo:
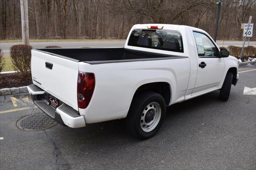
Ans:
<svg viewBox="0 0 256 170"><path fill-rule="evenodd" d="M195 26L214 34L216 0L28 0L31 38L126 38L134 24ZM242 40L255 0L223 0L219 39ZM20 2L0 0L0 39L21 38ZM254 34L255 33L254 29ZM256 40L256 36L253 37Z"/></svg>

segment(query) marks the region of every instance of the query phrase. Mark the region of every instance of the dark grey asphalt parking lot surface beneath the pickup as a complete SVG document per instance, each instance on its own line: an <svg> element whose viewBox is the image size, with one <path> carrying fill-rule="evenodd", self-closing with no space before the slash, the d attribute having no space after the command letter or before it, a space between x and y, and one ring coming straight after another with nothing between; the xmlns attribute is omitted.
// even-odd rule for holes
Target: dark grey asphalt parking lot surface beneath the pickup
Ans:
<svg viewBox="0 0 256 170"><path fill-rule="evenodd" d="M250 71L248 71L250 70ZM42 113L28 93L0 97L0 169L255 169L256 65L239 67L227 102L218 91L168 107L158 134L138 140L124 120L28 132L22 117Z"/></svg>

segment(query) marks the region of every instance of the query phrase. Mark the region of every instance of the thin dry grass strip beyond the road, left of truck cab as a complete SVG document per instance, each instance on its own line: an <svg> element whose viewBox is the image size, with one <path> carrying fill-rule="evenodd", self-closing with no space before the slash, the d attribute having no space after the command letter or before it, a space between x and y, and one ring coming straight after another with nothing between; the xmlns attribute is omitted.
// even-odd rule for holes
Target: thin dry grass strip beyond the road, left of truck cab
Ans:
<svg viewBox="0 0 256 170"><path fill-rule="evenodd" d="M31 39L30 42L98 42L98 41L126 41L126 40L85 40L85 39ZM22 42L22 40L0 40L0 43Z"/></svg>

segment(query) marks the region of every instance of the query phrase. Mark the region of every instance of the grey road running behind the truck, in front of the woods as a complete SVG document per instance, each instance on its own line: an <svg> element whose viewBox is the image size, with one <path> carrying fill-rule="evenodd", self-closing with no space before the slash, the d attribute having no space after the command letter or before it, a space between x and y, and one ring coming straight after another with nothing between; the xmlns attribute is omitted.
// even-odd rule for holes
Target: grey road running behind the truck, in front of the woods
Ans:
<svg viewBox="0 0 256 170"><path fill-rule="evenodd" d="M123 47L125 41L89 41L89 42L31 42L33 48L44 48L47 45L59 45L63 48L81 48L81 47ZM19 43L0 43L3 51L9 51L12 45ZM242 41L217 41L218 46L242 45ZM246 42L248 45L248 42ZM250 45L256 46L256 41L250 42Z"/></svg>

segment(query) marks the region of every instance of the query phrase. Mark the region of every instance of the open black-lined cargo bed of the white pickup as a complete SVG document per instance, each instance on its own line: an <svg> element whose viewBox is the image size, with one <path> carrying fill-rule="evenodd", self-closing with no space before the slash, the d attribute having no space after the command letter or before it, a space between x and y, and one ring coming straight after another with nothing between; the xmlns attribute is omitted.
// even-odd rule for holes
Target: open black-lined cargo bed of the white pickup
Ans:
<svg viewBox="0 0 256 170"><path fill-rule="evenodd" d="M150 53L121 48L45 48L33 49L44 53L49 53L58 57L70 59L72 61L83 61L90 64L146 61L160 59L186 58L184 56L166 55Z"/></svg>

